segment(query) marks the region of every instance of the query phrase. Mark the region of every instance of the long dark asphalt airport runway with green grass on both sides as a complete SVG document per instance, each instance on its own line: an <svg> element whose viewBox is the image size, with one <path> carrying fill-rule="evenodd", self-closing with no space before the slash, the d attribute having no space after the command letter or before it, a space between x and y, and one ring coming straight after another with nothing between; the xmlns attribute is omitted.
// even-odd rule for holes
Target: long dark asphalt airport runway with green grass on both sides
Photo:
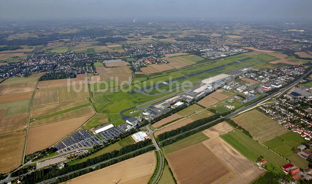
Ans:
<svg viewBox="0 0 312 184"><path fill-rule="evenodd" d="M148 86L148 87L145 87L145 88L141 88L141 89L138 89L138 90L134 90L134 91L131 91L130 93L137 93L137 92L140 92L140 91L149 90L149 89L152 89L152 88L154 88L154 87L164 85L164 83L166 84L166 83L171 83L171 82L174 82L174 81L179 81L179 80L182 80L182 79L187 79L187 78L189 78L189 77L197 76L197 75L200 75L200 74L203 74L203 73L212 71L212 70L217 70L217 69L222 68L222 67L231 66L231 65L234 65L234 64L239 63L239 62L247 61L247 60L249 60L249 59L252 59L252 58L241 59L241 60L239 60L239 61L234 61L234 62L225 64L225 65L221 65L221 66L218 66L218 67L214 67L214 68L210 68L210 69L207 69L207 70L199 71L199 72L197 72L197 73L193 73L193 74L190 74L190 75L187 75L187 76L178 77L178 78L175 78L175 79L170 80L170 81L165 81L165 82L163 82L163 83L158 83L158 84L154 84L154 85L151 85L151 86Z"/></svg>

